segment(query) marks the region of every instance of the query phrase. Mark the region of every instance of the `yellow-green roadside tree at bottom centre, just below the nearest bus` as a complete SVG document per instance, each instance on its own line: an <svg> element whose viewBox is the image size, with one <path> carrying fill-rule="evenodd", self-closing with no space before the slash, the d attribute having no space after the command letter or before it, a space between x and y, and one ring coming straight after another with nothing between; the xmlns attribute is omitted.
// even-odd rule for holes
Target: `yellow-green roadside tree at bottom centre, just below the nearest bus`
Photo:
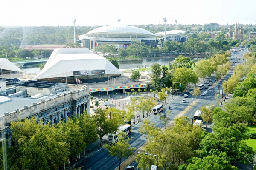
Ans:
<svg viewBox="0 0 256 170"><path fill-rule="evenodd" d="M110 145L104 144L109 154L119 159L119 170L122 159L127 159L129 156L132 156L136 150L135 147L131 147L129 144L131 139L132 137L128 137L126 133L122 132L118 134L118 142Z"/></svg>

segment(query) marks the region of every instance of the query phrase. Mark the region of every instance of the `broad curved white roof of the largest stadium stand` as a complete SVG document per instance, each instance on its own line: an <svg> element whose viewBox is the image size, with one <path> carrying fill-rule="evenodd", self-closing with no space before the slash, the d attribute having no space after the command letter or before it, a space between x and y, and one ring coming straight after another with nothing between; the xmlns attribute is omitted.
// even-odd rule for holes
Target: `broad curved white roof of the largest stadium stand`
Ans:
<svg viewBox="0 0 256 170"><path fill-rule="evenodd" d="M125 36L124 36L125 34ZM134 36L136 35L136 36ZM126 25L112 25L112 26L103 26L96 28L87 34L80 35L79 39L89 39L91 37L98 38L149 38L149 37L157 37L156 34L151 33L142 28L134 27L134 26L126 26Z"/></svg>

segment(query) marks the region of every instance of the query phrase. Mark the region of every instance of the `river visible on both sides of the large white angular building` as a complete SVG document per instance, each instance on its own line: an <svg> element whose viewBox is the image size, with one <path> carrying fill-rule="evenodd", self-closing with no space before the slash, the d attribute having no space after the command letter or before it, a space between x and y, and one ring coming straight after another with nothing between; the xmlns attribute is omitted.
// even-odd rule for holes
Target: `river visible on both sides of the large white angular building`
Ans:
<svg viewBox="0 0 256 170"><path fill-rule="evenodd" d="M192 60L197 58L191 58ZM201 57L198 57L198 59L202 59ZM166 58L166 59L143 59L143 60L132 60L132 61L118 61L119 69L131 69L131 68L143 68L150 67L153 63L158 63L160 65L168 65L168 62L171 62L175 60L175 58ZM40 69L38 67L27 67L23 68L23 71L26 71L27 73L33 73L38 74L40 72Z"/></svg>

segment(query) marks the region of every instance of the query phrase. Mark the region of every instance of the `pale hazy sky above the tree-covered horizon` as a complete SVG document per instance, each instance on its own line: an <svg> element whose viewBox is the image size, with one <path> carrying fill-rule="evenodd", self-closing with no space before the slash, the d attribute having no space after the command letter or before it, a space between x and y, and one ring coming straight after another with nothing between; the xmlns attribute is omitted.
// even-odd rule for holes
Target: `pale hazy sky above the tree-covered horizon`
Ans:
<svg viewBox="0 0 256 170"><path fill-rule="evenodd" d="M256 24L256 0L1 0L0 26ZM167 24L168 24L167 23Z"/></svg>

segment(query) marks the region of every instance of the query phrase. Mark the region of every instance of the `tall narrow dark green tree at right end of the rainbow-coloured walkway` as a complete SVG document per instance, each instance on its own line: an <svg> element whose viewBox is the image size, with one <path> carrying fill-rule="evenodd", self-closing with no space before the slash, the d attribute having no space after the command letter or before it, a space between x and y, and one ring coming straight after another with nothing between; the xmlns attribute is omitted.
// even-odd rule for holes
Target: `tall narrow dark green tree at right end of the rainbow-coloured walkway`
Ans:
<svg viewBox="0 0 256 170"><path fill-rule="evenodd" d="M154 63L153 65L151 65L151 71L152 74L150 74L150 84L151 87L154 88L154 90L158 89L159 83L160 83L160 76L161 76L161 65Z"/></svg>

